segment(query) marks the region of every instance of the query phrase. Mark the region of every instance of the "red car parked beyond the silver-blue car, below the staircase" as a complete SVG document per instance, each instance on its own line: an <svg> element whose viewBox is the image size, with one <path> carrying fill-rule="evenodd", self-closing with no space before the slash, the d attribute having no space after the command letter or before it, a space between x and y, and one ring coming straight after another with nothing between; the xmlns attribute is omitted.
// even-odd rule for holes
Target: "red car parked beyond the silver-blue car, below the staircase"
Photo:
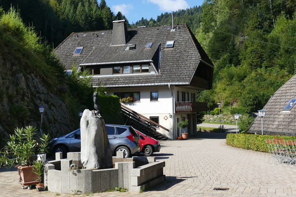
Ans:
<svg viewBox="0 0 296 197"><path fill-rule="evenodd" d="M151 156L154 152L159 152L160 144L156 139L149 137L148 135L145 135L144 133L138 130L135 131L140 135L140 151L144 153L145 156Z"/></svg>

